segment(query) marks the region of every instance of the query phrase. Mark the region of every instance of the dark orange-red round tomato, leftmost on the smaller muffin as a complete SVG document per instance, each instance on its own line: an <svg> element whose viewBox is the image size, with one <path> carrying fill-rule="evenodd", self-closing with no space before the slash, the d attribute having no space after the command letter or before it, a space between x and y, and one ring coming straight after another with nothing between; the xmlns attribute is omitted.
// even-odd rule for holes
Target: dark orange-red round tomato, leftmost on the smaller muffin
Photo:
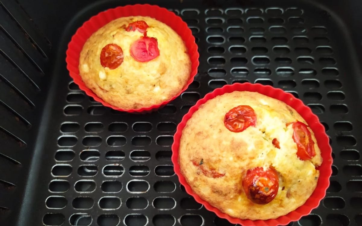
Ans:
<svg viewBox="0 0 362 226"><path fill-rule="evenodd" d="M123 62L123 50L117 44L108 44L102 48L100 60L102 67L116 69Z"/></svg>

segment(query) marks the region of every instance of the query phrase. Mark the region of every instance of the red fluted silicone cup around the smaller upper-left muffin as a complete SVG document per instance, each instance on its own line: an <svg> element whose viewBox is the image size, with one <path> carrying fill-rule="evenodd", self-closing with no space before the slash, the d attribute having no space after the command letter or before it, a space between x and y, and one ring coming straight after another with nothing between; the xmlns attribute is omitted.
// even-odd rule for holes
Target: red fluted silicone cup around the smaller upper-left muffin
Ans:
<svg viewBox="0 0 362 226"><path fill-rule="evenodd" d="M152 105L150 107L143 107L138 109L130 109L125 110L119 107L115 107L110 105L109 103L103 101L103 99L99 98L92 90L85 86L82 78L79 75L79 55L83 48L84 43L87 39L100 29L102 26L108 24L110 21L115 20L119 17L128 17L128 16L149 16L155 18L158 21L163 22L170 26L180 37L184 40L185 45L188 49L188 54L191 60L191 73L190 78L185 85L185 87L177 93L171 99L159 103L157 105ZM111 107L114 110L118 111L126 111L131 113L136 112L151 112L155 111L158 108L166 105L168 102L174 100L178 97L183 91L185 91L188 86L193 82L194 77L197 73L197 67L199 66L199 53L197 51L197 44L195 43L195 38L193 37L191 30L188 28L187 24L182 21L182 19L173 12L165 8L161 8L157 5L126 5L122 7L117 7L114 9L108 9L104 12L98 13L96 16L91 17L88 21L84 22L84 24L79 27L76 33L73 35L71 42L68 44L67 50L67 69L69 71L70 76L73 78L74 82L79 86L79 88L90 97L93 97L94 100L101 102L102 105L106 107Z"/></svg>

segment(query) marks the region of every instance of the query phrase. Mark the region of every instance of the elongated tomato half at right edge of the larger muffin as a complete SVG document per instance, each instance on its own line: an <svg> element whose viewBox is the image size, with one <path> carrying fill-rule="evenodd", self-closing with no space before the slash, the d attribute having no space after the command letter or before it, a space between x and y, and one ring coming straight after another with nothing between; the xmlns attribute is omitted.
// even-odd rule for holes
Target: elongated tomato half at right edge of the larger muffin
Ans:
<svg viewBox="0 0 362 226"><path fill-rule="evenodd" d="M316 152L314 150L314 141L312 140L311 132L308 129L308 125L296 121L287 123L287 126L292 124L293 126L293 140L297 146L296 155L301 160L312 159Z"/></svg>

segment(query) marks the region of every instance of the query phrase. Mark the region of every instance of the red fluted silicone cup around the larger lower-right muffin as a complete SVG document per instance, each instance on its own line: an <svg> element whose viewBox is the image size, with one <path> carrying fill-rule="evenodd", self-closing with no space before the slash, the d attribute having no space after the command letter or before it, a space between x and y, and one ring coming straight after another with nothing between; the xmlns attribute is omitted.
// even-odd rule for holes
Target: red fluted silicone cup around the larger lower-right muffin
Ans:
<svg viewBox="0 0 362 226"><path fill-rule="evenodd" d="M196 193L194 193L191 187L187 184L184 175L182 175L180 172L180 165L178 165L178 147L180 145L182 129L184 129L186 122L191 118L192 114L198 110L199 106L208 101L209 99L212 99L224 93L231 93L233 91L258 92L268 97L283 101L287 105L294 108L307 121L308 125L315 134L318 146L321 150L323 163L317 168L320 171L320 176L317 182L316 189L302 206L299 206L296 210L276 219L268 219L265 221L252 221L249 219L234 218L225 213L222 213L219 209L211 206L208 202L202 200ZM324 131L324 126L319 122L318 117L312 113L311 109L305 106L302 101L296 99L290 93L286 93L281 89L276 89L269 85L265 86L261 84L235 83L233 85L225 85L222 88L215 89L211 93L206 94L204 98L200 99L193 107L190 108L189 112L182 118L180 124L178 124L176 133L173 136L172 144L172 162L174 166L173 169L177 174L180 183L185 187L186 192L193 196L197 202L204 205L207 210L214 212L218 217L225 218L231 223L238 223L244 226L287 225L291 221L298 221L301 217L308 215L312 211L312 209L315 209L319 205L319 202L325 196L325 192L329 186L329 177L332 174L332 148L329 145L329 138Z"/></svg>

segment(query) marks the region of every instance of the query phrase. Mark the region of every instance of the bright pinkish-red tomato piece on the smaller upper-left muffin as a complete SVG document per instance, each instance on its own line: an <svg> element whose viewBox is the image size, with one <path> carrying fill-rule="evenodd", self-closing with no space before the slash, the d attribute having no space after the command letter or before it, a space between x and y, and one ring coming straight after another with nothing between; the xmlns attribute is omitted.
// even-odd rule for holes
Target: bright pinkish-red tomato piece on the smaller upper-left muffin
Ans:
<svg viewBox="0 0 362 226"><path fill-rule="evenodd" d="M160 55L156 38L141 37L131 45L131 56L138 62L147 62Z"/></svg>

